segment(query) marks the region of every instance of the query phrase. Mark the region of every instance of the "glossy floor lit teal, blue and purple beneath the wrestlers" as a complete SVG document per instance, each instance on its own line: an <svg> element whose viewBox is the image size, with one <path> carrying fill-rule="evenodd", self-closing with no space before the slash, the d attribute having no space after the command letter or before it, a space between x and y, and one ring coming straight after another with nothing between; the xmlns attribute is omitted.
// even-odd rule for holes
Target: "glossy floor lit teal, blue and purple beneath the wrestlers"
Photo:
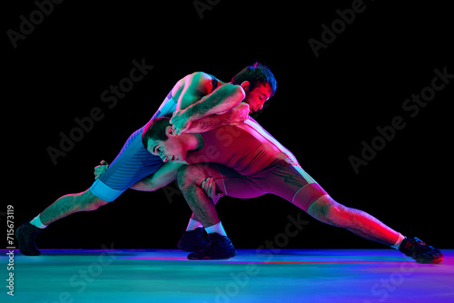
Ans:
<svg viewBox="0 0 454 303"><path fill-rule="evenodd" d="M5 257L7 251L2 250ZM167 249L15 250L1 302L454 302L454 249L421 265L394 249L239 249L198 261ZM7 294L14 272L14 297Z"/></svg>

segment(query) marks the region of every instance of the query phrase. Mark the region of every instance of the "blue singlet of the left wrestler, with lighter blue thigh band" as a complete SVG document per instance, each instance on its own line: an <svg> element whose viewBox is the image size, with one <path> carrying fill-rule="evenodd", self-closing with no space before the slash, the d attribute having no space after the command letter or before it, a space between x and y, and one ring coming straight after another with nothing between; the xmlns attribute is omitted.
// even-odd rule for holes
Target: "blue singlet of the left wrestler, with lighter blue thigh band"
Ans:
<svg viewBox="0 0 454 303"><path fill-rule="evenodd" d="M172 117L175 108L176 102L172 98L171 91L152 119ZM109 169L90 187L90 191L99 199L107 202L115 200L137 181L141 181L163 166L161 158L153 156L143 147L143 127L133 132Z"/></svg>

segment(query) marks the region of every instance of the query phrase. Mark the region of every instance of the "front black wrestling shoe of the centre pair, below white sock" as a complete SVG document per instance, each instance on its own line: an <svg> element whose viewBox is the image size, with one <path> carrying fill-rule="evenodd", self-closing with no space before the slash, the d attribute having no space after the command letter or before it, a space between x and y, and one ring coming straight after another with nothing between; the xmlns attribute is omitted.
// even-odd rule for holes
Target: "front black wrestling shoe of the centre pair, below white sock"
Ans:
<svg viewBox="0 0 454 303"><path fill-rule="evenodd" d="M193 252L188 259L230 259L236 256L232 240L218 233L209 233L210 244L205 249Z"/></svg>

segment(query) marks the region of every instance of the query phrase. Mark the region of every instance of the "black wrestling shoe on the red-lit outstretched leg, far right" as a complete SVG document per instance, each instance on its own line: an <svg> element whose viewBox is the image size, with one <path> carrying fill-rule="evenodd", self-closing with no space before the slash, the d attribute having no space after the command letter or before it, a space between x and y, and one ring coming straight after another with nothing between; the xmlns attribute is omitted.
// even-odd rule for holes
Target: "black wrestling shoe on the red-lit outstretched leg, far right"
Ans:
<svg viewBox="0 0 454 303"><path fill-rule="evenodd" d="M444 259L439 249L424 243L416 237L403 239L399 250L407 257L411 257L421 264L439 264Z"/></svg>

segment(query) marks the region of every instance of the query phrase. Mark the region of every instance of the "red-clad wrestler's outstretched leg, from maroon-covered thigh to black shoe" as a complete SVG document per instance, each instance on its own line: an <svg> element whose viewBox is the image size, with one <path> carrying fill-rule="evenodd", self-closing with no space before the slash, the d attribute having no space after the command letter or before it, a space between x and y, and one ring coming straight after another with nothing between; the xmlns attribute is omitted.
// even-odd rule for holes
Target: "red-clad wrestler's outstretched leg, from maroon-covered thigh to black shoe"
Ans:
<svg viewBox="0 0 454 303"><path fill-rule="evenodd" d="M406 239L370 214L332 200L300 166L276 166L269 171L263 171L260 177L264 189L291 201L317 220L350 230L364 239L399 249L420 263L439 263L443 259L439 249L417 238Z"/></svg>

